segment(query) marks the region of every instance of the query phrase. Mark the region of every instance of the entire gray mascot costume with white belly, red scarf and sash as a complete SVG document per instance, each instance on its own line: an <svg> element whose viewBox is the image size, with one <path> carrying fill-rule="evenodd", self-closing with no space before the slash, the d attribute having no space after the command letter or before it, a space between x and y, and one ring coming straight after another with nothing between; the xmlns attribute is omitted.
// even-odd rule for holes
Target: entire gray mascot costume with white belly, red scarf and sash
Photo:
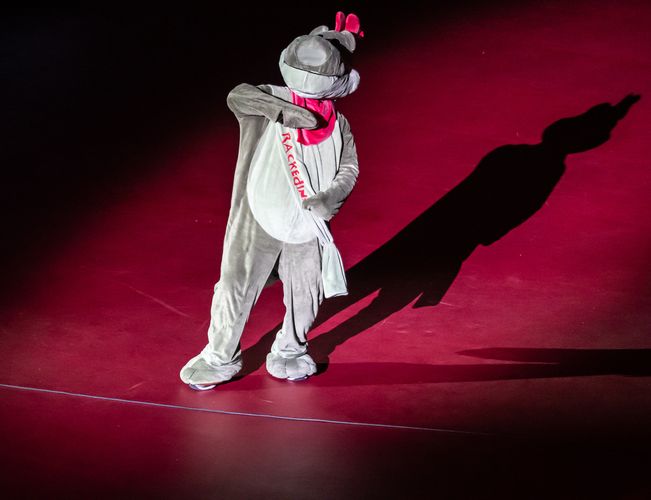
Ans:
<svg viewBox="0 0 651 500"><path fill-rule="evenodd" d="M338 12L334 30L320 26L283 50L285 87L242 84L228 95L240 147L208 344L180 373L193 389L212 389L242 369L242 330L274 270L286 313L267 371L289 380L316 372L307 332L324 296L347 293L327 221L359 170L350 125L333 101L359 85L350 56L362 36L358 17Z"/></svg>

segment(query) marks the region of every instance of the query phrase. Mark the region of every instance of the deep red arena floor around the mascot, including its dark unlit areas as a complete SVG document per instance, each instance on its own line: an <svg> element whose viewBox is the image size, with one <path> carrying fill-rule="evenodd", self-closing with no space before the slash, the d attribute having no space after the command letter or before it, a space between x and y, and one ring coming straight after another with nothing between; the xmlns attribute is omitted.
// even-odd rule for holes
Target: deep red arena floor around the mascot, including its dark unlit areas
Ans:
<svg viewBox="0 0 651 500"><path fill-rule="evenodd" d="M2 21L4 498L651 498L649 2L356 8L351 293L319 373L264 368L276 283L243 376L179 380L219 278L226 94L280 84L336 10ZM581 152L550 155L571 117Z"/></svg>

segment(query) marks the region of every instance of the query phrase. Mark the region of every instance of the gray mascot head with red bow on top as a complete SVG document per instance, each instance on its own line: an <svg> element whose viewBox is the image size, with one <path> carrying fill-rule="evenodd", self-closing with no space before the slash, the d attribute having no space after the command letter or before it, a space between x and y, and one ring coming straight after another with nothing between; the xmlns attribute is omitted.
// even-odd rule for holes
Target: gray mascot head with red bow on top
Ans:
<svg viewBox="0 0 651 500"><path fill-rule="evenodd" d="M359 73L350 60L357 38L362 38L359 18L337 12L335 29L319 26L296 38L280 54L280 72L295 94L312 99L337 99L357 90Z"/></svg>

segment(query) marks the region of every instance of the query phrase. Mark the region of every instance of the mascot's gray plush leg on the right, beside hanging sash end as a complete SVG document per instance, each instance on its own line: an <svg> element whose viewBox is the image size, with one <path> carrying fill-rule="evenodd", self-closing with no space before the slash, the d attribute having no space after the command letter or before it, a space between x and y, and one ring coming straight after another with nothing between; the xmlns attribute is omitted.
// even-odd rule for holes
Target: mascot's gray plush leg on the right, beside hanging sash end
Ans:
<svg viewBox="0 0 651 500"><path fill-rule="evenodd" d="M316 373L307 354L307 332L323 300L318 241L284 244L278 274L283 282L285 319L267 356L267 370L278 378L298 380Z"/></svg>

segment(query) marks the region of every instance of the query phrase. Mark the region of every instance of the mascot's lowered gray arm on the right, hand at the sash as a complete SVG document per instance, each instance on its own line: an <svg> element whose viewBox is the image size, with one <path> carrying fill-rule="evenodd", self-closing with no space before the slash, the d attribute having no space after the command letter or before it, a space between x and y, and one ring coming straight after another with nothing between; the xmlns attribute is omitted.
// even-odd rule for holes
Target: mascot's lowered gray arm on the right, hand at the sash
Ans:
<svg viewBox="0 0 651 500"><path fill-rule="evenodd" d="M337 175L328 189L303 201L303 208L314 211L325 220L332 219L339 212L355 187L359 175L357 148L350 131L350 124L343 115L339 115L338 119L341 127L342 151Z"/></svg>

